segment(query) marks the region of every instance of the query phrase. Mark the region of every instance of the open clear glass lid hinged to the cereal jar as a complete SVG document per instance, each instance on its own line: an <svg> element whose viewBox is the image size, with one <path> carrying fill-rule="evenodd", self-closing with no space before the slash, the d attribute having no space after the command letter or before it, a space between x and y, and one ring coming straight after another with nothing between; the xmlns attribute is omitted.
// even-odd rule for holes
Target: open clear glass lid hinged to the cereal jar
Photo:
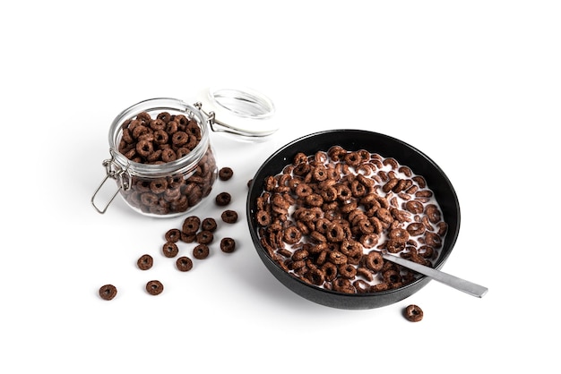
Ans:
<svg viewBox="0 0 561 374"><path fill-rule="evenodd" d="M272 120L272 100L246 87L210 87L203 89L196 106L209 117L213 132L223 132L244 140L266 140L279 130Z"/></svg>

